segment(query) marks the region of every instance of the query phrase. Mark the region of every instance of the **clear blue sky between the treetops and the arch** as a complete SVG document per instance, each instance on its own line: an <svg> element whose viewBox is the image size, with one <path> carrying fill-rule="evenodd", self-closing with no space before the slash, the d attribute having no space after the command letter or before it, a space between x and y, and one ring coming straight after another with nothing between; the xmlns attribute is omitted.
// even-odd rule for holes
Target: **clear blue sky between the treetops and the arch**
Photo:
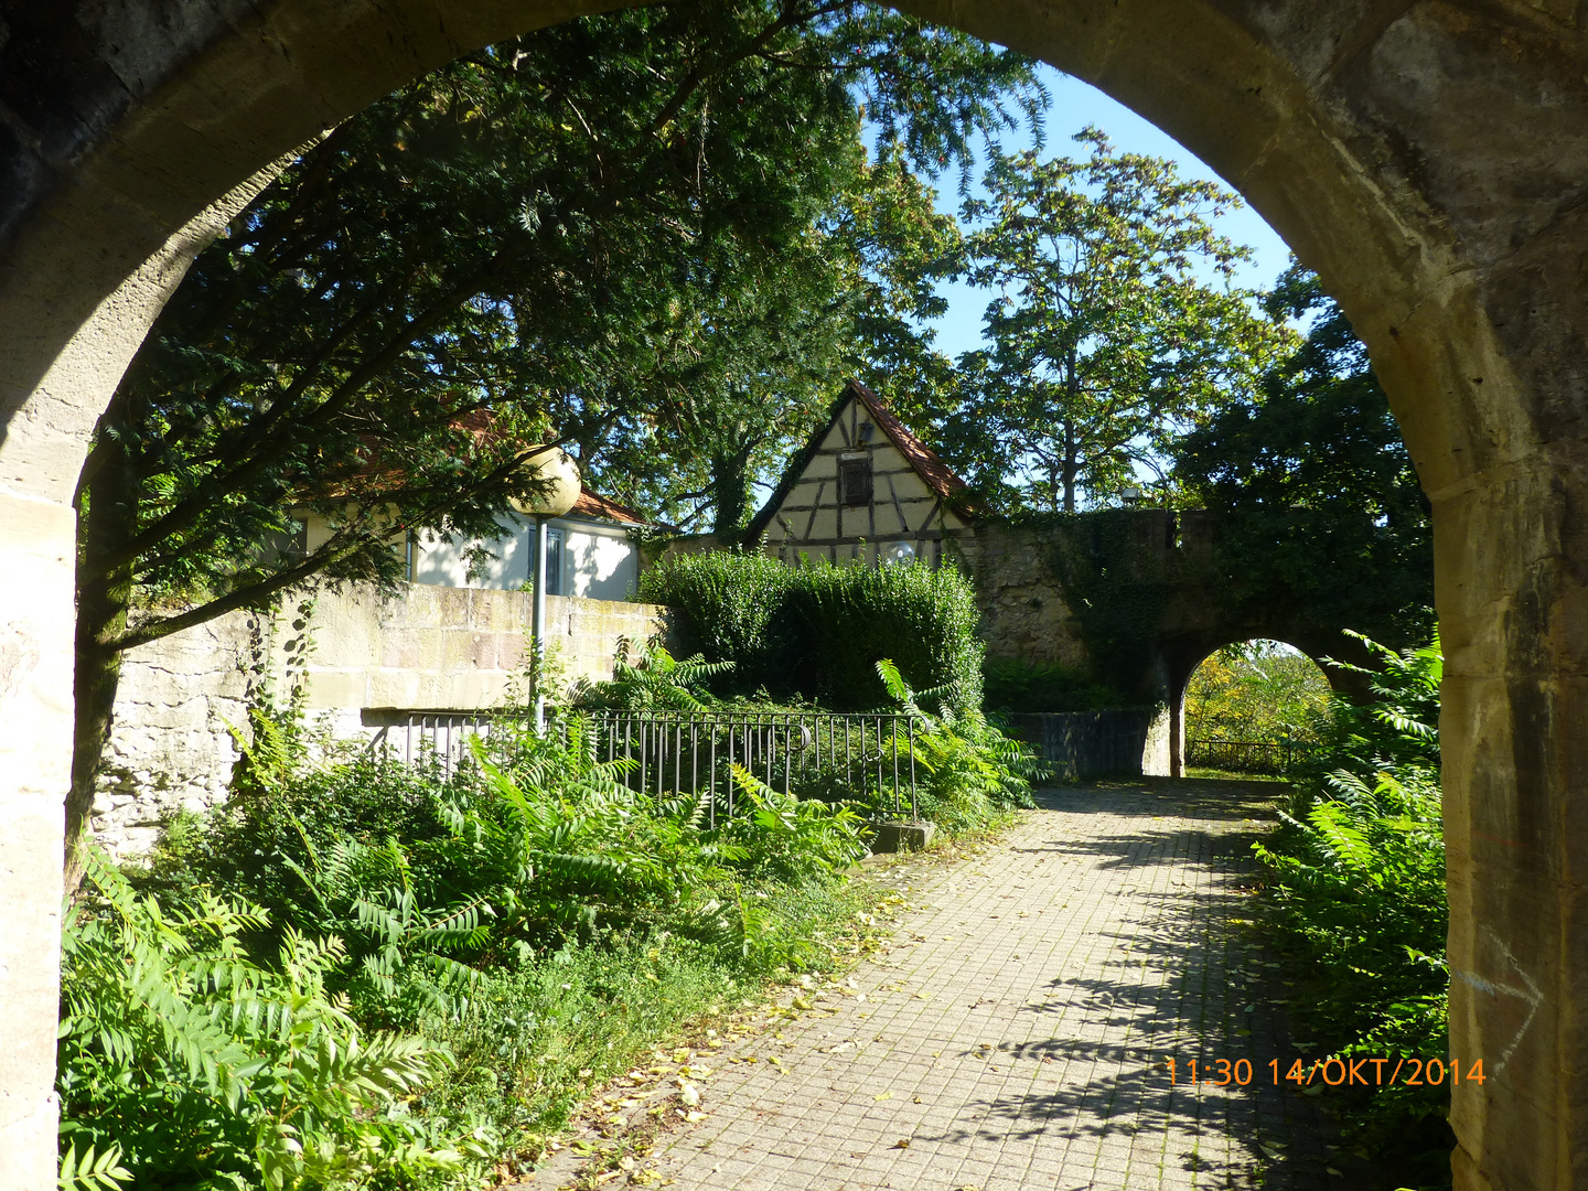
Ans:
<svg viewBox="0 0 1588 1191"><path fill-rule="evenodd" d="M1183 176L1207 178L1229 189L1228 183L1167 132L1108 98L1096 87L1061 75L1048 65L1042 67L1042 81L1053 97L1045 124L1045 156L1059 157L1078 152L1080 146L1073 145L1070 137L1088 124L1096 124L1116 148L1126 152L1167 157L1180 167ZM1029 130L1004 137L1005 151L1029 148ZM973 192L985 194L980 187L980 170L977 170ZM945 175L939 179L939 210L958 214L959 202L958 178ZM1240 286L1267 289L1289 262L1289 249L1285 241L1245 203L1218 219L1216 227L1237 245L1253 249L1251 264L1237 275ZM989 294L964 283L945 284L940 292L948 299L950 310L946 316L932 324L937 330L934 346L950 357L981 346L981 311L986 308Z"/></svg>

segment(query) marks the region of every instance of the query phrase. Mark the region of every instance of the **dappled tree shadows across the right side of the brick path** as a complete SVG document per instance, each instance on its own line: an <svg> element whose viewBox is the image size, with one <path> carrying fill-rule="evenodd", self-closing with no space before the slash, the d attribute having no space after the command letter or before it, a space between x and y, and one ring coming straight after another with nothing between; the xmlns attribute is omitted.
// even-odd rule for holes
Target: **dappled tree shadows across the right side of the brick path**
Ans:
<svg viewBox="0 0 1588 1191"><path fill-rule="evenodd" d="M1039 1078L967 1105L943 1140L1051 1140L1058 1131L1070 1147L1093 1139L1127 1150L1132 1170L1159 1164L1166 1188L1377 1186L1334 1148L1326 1089L1285 1080L1305 1046L1289 1035L1278 964L1250 929L1259 881L1251 842L1286 789L1137 780L1039 794L1043 808L1126 816L1131 829L1016 851L1088 858L1091 872L1154 888L1134 892L1148 907L1137 921L1091 932L1089 945L1108 950L1107 977L1097 962L1089 975L1054 973L1045 996L1023 1007L1046 1026L1002 1050L1012 1062L1039 1064ZM1193 1086L1193 1062L1197 1080L1223 1086Z"/></svg>

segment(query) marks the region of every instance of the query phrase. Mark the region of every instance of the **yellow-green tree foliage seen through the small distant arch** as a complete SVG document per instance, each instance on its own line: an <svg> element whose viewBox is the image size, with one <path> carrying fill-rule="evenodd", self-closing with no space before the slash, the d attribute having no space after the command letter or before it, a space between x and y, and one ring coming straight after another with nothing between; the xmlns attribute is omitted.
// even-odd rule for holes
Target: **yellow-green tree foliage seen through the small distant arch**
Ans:
<svg viewBox="0 0 1588 1191"><path fill-rule="evenodd" d="M1323 670L1280 642L1231 645L1196 669L1186 688L1193 740L1310 740L1329 700Z"/></svg>

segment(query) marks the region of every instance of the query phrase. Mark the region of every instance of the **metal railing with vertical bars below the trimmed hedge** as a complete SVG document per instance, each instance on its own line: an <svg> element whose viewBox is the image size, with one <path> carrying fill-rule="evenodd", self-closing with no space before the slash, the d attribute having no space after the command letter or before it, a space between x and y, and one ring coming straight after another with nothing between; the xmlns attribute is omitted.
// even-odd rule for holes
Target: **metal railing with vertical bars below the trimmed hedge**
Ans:
<svg viewBox="0 0 1588 1191"><path fill-rule="evenodd" d="M627 759L624 781L635 791L688 794L707 808L734 813L732 767L750 772L783 792L826 789L834 797L873 794L894 815L916 799L916 730L912 716L837 711L562 711L548 732L569 738L573 718L583 719L599 761ZM402 764L432 762L451 777L468 738L527 730L521 715L497 711L411 711L383 716L368 750Z"/></svg>

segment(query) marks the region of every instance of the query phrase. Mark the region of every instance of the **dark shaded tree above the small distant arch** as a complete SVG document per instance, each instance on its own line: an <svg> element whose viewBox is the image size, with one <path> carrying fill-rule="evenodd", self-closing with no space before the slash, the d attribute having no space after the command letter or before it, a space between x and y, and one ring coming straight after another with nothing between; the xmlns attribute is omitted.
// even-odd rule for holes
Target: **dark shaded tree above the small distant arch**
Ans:
<svg viewBox="0 0 1588 1191"><path fill-rule="evenodd" d="M1434 594L1429 508L1367 351L1299 265L1269 310L1310 318L1305 340L1178 443L1175 478L1221 515L1220 567L1243 605L1302 600L1321 624L1420 640Z"/></svg>

